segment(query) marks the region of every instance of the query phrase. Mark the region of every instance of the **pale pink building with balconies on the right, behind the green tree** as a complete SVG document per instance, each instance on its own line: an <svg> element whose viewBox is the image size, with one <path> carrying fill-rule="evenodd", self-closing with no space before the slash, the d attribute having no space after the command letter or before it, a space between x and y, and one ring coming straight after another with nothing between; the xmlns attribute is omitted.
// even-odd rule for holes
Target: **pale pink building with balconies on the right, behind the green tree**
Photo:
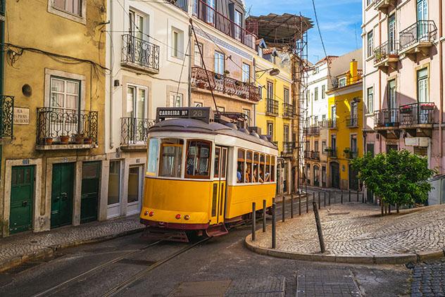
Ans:
<svg viewBox="0 0 445 297"><path fill-rule="evenodd" d="M443 0L363 0L365 149L445 173Z"/></svg>

